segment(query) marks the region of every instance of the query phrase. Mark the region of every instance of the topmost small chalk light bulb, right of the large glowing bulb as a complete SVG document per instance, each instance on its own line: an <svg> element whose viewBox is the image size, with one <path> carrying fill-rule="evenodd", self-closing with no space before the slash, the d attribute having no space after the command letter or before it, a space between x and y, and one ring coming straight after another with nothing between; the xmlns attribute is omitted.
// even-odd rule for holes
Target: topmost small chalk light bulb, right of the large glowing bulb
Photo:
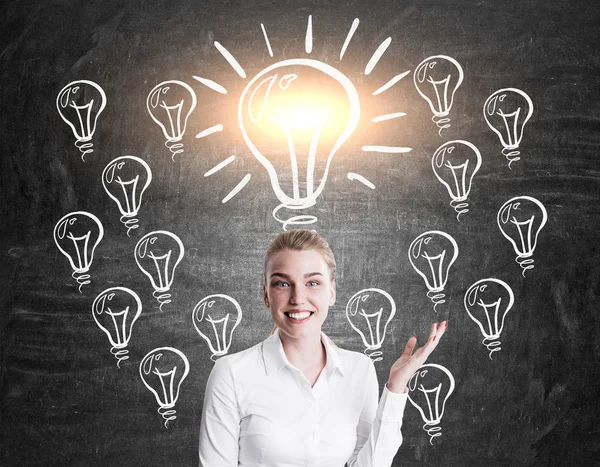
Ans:
<svg viewBox="0 0 600 467"><path fill-rule="evenodd" d="M450 110L454 93L462 84L463 69L456 60L446 55L434 55L423 60L413 75L415 87L427 101L433 117L431 120L442 130L450 127Z"/></svg>

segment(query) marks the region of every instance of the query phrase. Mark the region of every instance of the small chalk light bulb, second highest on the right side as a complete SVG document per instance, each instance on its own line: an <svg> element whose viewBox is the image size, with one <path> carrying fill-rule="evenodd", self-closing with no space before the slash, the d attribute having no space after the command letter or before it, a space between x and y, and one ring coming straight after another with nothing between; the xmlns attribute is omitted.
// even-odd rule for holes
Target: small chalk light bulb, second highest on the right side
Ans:
<svg viewBox="0 0 600 467"><path fill-rule="evenodd" d="M483 105L483 116L489 127L498 135L503 146L502 154L508 167L520 160L518 151L523 128L533 114L531 98L515 88L500 89L487 98Z"/></svg>

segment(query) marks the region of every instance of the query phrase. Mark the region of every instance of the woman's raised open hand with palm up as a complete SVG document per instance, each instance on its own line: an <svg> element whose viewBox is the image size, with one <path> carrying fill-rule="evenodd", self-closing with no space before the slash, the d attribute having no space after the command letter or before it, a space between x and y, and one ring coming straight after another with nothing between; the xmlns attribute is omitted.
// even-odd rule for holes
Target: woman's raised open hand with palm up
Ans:
<svg viewBox="0 0 600 467"><path fill-rule="evenodd" d="M390 369L390 377L387 382L388 390L400 393L406 391L409 379L425 363L429 354L437 347L447 328L448 321L443 321L439 325L438 323L432 324L429 339L427 339L423 347L419 347L416 351L417 338L413 336L408 340L404 352Z"/></svg>

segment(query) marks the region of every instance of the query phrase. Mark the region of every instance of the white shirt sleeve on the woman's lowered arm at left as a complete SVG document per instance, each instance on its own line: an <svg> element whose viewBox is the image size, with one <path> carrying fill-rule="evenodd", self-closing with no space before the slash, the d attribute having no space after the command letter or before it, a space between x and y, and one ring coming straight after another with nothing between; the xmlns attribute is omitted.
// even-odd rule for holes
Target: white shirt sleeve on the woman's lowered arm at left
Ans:
<svg viewBox="0 0 600 467"><path fill-rule="evenodd" d="M226 363L218 360L206 383L200 423L200 467L238 465L240 413L231 368Z"/></svg>

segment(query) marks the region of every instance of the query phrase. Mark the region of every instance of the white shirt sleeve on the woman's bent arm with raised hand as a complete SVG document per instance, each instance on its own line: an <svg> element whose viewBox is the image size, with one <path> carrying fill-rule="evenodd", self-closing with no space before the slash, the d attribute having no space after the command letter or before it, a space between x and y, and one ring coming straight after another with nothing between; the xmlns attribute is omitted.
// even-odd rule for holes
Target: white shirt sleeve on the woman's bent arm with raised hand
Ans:
<svg viewBox="0 0 600 467"><path fill-rule="evenodd" d="M379 405L379 384L373 362L369 365L367 392L357 427L356 448L348 467L390 467L402 444L402 416L408 393L384 387Z"/></svg>

